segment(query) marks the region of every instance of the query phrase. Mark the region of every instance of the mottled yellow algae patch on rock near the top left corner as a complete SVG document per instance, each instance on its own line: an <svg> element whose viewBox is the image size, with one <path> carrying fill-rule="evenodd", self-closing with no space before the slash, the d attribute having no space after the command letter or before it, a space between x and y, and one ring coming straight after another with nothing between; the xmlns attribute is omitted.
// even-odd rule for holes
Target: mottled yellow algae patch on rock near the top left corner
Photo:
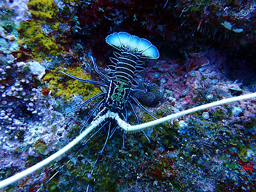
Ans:
<svg viewBox="0 0 256 192"><path fill-rule="evenodd" d="M65 54L72 42L70 20L60 16L53 0L31 0L28 8L32 18L20 22L18 29L17 43L25 48L22 52L37 61L49 54Z"/></svg>

